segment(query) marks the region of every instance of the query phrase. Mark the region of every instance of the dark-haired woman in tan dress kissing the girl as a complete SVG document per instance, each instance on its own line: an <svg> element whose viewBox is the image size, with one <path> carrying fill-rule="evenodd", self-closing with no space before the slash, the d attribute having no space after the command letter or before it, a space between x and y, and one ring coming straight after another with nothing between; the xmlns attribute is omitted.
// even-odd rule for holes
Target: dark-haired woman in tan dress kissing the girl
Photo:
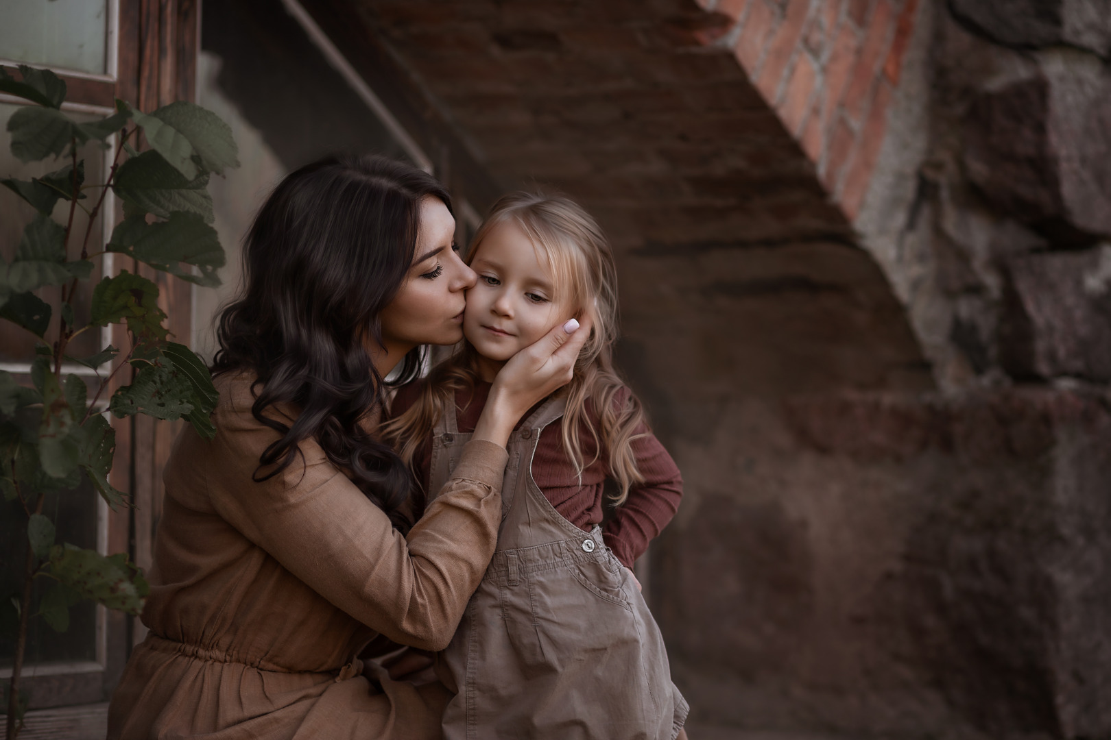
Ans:
<svg viewBox="0 0 1111 740"><path fill-rule="evenodd" d="M358 656L376 633L451 639L500 519L509 434L571 377L569 321L498 375L474 440L421 520L410 474L373 432L382 378L461 336L474 273L450 200L381 158L327 159L282 181L220 320L217 436L191 428L166 467L143 611L109 738L434 738L447 702Z"/></svg>

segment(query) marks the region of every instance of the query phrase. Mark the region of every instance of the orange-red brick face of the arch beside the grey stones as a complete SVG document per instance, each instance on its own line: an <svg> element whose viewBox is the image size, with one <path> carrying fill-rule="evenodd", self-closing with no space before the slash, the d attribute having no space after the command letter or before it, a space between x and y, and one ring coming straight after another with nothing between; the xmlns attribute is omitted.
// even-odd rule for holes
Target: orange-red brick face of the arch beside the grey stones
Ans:
<svg viewBox="0 0 1111 740"><path fill-rule="evenodd" d="M849 219L879 156L919 0L699 0Z"/></svg>

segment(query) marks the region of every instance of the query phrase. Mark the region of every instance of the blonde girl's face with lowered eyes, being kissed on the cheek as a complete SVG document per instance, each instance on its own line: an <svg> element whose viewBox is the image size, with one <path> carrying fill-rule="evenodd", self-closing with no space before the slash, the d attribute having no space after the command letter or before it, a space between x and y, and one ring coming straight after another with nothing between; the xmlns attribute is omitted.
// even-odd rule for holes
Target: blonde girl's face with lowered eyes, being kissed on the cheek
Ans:
<svg viewBox="0 0 1111 740"><path fill-rule="evenodd" d="M513 221L487 233L471 267L478 283L467 292L463 335L487 359L506 362L575 313Z"/></svg>

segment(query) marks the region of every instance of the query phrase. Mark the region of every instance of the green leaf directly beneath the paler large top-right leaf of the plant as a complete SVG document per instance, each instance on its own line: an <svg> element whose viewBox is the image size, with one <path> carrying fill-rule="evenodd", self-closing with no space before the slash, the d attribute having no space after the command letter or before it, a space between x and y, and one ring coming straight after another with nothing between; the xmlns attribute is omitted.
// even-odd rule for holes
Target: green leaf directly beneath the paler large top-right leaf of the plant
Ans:
<svg viewBox="0 0 1111 740"><path fill-rule="evenodd" d="M112 190L133 206L169 219L174 211L197 213L204 223L212 223L212 196L209 176L189 180L156 151L130 159L116 173Z"/></svg>

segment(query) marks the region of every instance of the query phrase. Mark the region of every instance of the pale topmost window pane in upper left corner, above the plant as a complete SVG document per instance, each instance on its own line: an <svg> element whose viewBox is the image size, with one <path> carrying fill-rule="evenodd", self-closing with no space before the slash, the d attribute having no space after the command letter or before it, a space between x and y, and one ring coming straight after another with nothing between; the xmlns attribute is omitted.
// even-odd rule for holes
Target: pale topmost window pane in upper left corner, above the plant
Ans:
<svg viewBox="0 0 1111 740"><path fill-rule="evenodd" d="M108 0L7 0L0 58L108 72Z"/></svg>

